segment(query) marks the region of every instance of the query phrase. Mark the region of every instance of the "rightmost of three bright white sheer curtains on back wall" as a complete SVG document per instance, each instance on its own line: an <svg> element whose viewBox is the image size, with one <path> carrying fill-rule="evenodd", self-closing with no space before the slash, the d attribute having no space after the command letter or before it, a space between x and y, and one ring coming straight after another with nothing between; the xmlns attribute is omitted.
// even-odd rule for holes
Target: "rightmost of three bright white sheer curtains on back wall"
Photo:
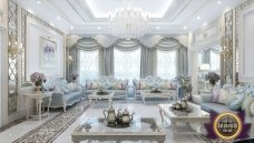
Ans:
<svg viewBox="0 0 254 143"><path fill-rule="evenodd" d="M176 78L177 52L157 50L157 75L163 79L172 80Z"/></svg>

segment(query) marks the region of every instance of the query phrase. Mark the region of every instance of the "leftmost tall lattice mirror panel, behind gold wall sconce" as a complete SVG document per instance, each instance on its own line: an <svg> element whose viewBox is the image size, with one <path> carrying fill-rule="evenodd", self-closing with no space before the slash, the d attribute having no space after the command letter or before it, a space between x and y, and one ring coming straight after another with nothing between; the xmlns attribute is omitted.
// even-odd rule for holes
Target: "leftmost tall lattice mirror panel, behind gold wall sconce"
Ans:
<svg viewBox="0 0 254 143"><path fill-rule="evenodd" d="M8 114L18 110L18 4L8 1Z"/></svg>

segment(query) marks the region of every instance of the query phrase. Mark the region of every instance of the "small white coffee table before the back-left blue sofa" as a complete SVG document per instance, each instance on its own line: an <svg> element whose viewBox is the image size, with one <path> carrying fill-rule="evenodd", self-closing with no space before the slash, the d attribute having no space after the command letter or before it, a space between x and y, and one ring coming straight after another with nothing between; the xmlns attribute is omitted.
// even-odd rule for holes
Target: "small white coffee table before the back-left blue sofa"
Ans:
<svg viewBox="0 0 254 143"><path fill-rule="evenodd" d="M109 106L111 106L114 93L115 92L108 92L108 94L99 95L99 94L97 94L97 91L92 92L91 94L88 95L89 104L91 103L92 100L96 100L96 101L108 100Z"/></svg>

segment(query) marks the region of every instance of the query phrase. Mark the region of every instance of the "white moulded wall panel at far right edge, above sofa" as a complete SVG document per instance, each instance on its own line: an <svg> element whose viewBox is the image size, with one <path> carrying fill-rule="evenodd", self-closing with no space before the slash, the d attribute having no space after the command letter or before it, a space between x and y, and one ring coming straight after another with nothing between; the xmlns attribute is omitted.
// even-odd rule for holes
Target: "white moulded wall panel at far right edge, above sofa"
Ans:
<svg viewBox="0 0 254 143"><path fill-rule="evenodd" d="M246 1L237 8L236 23L238 79L240 82L254 82L254 1Z"/></svg>

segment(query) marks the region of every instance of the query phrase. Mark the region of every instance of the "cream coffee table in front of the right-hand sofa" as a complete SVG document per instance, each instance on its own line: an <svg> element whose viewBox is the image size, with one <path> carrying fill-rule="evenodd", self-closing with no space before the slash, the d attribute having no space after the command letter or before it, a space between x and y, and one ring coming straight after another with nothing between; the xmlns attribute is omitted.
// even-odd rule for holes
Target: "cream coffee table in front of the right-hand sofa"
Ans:
<svg viewBox="0 0 254 143"><path fill-rule="evenodd" d="M158 104L159 112L162 115L162 122L166 122L166 118L170 121L170 127L174 131L174 135L176 134L201 134L202 129L204 129L204 124L209 122L209 113L201 110L199 105L188 102L188 106L192 108L190 113L183 113L170 110L172 104ZM179 132L178 126L180 123L184 123L190 126L190 124L195 124L197 127L195 132ZM193 131L193 130L192 130Z"/></svg>

